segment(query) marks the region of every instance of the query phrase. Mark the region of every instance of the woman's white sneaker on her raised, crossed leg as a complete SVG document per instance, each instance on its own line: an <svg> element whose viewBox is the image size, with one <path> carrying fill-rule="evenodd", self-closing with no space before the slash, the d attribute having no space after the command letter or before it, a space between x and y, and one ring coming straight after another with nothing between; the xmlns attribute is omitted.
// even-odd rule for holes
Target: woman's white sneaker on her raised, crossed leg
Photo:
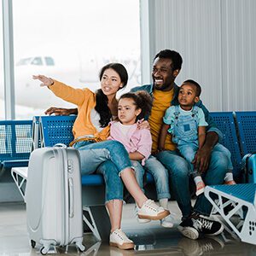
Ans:
<svg viewBox="0 0 256 256"><path fill-rule="evenodd" d="M148 218L153 220L165 218L169 214L170 212L168 210L165 210L163 207L159 207L150 199L145 201L143 206L138 208L137 211L138 218Z"/></svg>

